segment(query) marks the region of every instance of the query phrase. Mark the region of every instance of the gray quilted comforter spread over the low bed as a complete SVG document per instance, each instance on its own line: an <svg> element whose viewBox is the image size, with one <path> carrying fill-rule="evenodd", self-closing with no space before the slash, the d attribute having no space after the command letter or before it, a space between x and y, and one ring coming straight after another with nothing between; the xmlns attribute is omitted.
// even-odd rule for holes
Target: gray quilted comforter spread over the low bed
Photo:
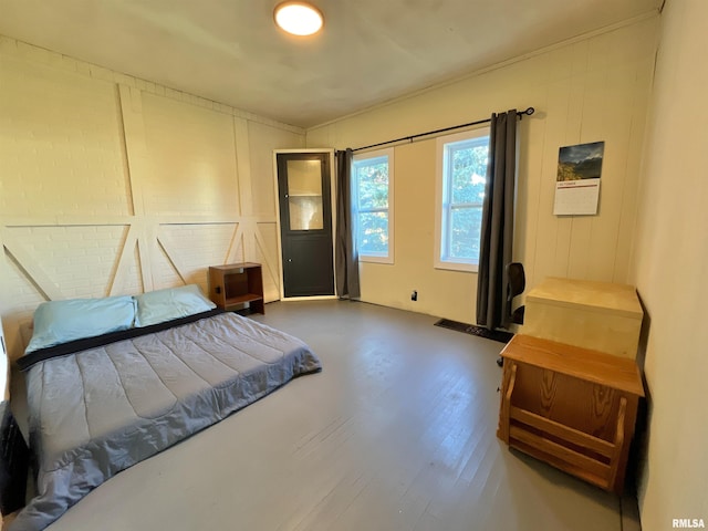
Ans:
<svg viewBox="0 0 708 531"><path fill-rule="evenodd" d="M45 528L121 470L320 367L300 340L232 313L38 363L38 492L10 530Z"/></svg>

